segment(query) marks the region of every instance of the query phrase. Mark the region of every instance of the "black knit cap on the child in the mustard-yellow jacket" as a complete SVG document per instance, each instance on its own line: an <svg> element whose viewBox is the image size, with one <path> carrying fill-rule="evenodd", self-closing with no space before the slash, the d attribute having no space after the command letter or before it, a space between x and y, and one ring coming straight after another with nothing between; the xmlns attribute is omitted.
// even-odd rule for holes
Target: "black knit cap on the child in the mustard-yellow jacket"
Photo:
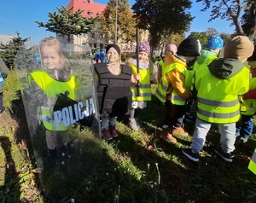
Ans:
<svg viewBox="0 0 256 203"><path fill-rule="evenodd" d="M198 56L201 52L201 43L197 38L185 38L177 48L177 55Z"/></svg>

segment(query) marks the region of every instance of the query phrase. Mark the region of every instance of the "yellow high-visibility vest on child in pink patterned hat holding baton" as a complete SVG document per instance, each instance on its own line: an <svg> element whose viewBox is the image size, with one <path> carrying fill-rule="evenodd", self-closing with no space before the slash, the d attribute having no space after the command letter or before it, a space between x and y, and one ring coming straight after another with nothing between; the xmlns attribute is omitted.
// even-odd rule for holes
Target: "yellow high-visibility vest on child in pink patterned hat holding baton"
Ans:
<svg viewBox="0 0 256 203"><path fill-rule="evenodd" d="M130 65L132 74L137 75L137 67L133 64ZM151 69L147 70L139 69L140 81L139 81L139 96L137 96L136 84L131 85L132 101L151 101L152 90L150 84Z"/></svg>

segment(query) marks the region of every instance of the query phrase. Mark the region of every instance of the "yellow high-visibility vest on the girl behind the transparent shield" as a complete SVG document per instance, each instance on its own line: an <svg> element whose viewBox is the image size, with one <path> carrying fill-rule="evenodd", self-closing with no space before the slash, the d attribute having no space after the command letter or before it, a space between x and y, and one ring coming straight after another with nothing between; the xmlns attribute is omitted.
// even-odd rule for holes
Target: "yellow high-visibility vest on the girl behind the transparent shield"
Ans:
<svg viewBox="0 0 256 203"><path fill-rule="evenodd" d="M72 75L71 78L66 82L60 82L51 78L48 73L42 71L36 71L30 74L34 79L38 87L44 91L44 94L49 99L56 99L59 94L65 94L69 92L68 97L74 100L75 98L75 77ZM30 81L30 80L29 80ZM56 129L55 119L53 116L53 107L41 106L38 107L38 116L41 117L44 127L49 131L67 131L70 126L65 126L61 122Z"/></svg>

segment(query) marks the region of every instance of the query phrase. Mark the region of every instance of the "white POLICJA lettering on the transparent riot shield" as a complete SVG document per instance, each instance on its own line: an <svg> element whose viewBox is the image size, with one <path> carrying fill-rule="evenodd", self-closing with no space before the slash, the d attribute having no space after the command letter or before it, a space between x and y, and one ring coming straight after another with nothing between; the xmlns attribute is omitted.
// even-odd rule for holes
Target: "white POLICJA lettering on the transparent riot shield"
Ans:
<svg viewBox="0 0 256 203"><path fill-rule="evenodd" d="M85 107L83 102L79 102L73 106L64 107L59 111L55 111L54 120L56 131L61 130L61 125L67 127L78 122L80 119L84 119L84 117L90 116L93 113L95 113L95 107L92 98L85 101Z"/></svg>

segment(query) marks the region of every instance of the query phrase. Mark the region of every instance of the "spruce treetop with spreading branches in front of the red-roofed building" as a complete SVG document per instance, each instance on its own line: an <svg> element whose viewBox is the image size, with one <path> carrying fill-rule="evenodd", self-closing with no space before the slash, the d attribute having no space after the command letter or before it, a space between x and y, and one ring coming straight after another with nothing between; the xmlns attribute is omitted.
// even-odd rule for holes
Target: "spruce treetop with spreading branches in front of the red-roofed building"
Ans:
<svg viewBox="0 0 256 203"><path fill-rule="evenodd" d="M72 35L79 35L91 32L95 26L98 16L96 18L84 18L83 10L78 10L72 13L73 8L66 9L56 8L58 13L49 13L49 20L47 23L35 21L39 27L45 27L49 32L55 32L61 36L67 36L67 41L70 42Z"/></svg>

